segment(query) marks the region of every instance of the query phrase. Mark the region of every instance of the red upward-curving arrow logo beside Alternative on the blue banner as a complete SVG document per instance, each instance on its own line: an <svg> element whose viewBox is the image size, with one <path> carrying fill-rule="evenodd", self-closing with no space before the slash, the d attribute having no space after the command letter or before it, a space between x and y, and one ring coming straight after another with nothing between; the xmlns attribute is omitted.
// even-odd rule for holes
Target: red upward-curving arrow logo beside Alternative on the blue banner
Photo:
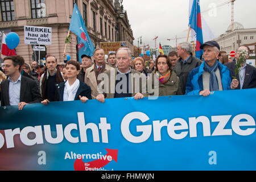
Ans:
<svg viewBox="0 0 256 182"><path fill-rule="evenodd" d="M101 159L93 160L92 162L85 163L82 159L76 159L74 163L75 171L92 171L102 168L110 163L112 160L117 162L118 150L105 148L108 154L101 157Z"/></svg>

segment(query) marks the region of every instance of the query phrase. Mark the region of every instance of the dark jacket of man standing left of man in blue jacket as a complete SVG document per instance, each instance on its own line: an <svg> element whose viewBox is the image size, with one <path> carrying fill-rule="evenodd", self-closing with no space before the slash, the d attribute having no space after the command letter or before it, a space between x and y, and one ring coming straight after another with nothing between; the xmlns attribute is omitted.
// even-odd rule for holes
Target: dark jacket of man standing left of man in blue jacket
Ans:
<svg viewBox="0 0 256 182"><path fill-rule="evenodd" d="M183 61L181 61L181 58L177 60L177 63L174 67L174 71L176 75L180 78L180 89L185 94L186 91L186 85L188 81L189 73L192 71L192 69L199 67L201 65L201 60L197 59L194 56L190 56L188 61L183 65Z"/></svg>

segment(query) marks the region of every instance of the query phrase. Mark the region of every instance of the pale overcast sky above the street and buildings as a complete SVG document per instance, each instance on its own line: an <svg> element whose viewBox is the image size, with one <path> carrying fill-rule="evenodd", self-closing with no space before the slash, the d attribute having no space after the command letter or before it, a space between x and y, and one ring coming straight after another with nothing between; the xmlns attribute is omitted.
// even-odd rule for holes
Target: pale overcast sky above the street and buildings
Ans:
<svg viewBox="0 0 256 182"><path fill-rule="evenodd" d="M225 2L229 0L200 1L201 16L213 32L214 38L224 34L231 24L231 3L218 6ZM149 44L151 48L155 47L155 41L152 40L155 36L159 37L156 47L159 47L159 42L162 46L176 47L176 40L167 40L175 39L175 36L181 38L177 43L186 41L189 0L123 0L123 6L133 30L135 46L138 46L140 36L142 36L142 45ZM255 0L236 0L234 22L242 23L245 28L256 28L255 7Z"/></svg>

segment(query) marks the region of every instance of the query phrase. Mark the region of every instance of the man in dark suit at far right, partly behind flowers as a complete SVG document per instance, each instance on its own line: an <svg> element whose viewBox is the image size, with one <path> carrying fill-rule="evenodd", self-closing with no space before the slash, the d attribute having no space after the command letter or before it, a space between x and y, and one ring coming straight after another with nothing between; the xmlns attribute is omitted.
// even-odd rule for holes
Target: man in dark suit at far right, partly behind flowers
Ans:
<svg viewBox="0 0 256 182"><path fill-rule="evenodd" d="M249 48L247 46L241 46L237 49L235 60L232 63L226 63L225 65L230 69L231 77L233 78L235 76L235 70L236 70L236 63L239 59L239 51L241 49L247 49L248 55L246 59L249 58ZM240 73L236 75L237 80L239 81L237 89L252 89L256 88L256 68L246 64L246 61L242 63Z"/></svg>

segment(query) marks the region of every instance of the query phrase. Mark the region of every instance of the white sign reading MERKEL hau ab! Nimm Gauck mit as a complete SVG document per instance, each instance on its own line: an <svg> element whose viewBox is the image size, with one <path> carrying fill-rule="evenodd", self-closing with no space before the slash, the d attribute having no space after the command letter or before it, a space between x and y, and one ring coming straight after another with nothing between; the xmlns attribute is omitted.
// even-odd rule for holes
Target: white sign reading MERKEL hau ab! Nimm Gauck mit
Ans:
<svg viewBox="0 0 256 182"><path fill-rule="evenodd" d="M24 26L24 43L33 45L51 45L52 28Z"/></svg>

